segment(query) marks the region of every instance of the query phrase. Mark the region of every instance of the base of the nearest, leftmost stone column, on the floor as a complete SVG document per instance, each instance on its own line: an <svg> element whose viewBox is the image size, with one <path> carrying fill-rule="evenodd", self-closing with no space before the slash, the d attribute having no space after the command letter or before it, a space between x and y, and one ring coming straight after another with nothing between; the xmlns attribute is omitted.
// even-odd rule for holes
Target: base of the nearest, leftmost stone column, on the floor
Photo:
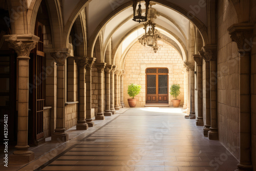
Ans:
<svg viewBox="0 0 256 171"><path fill-rule="evenodd" d="M9 163L29 163L35 159L35 155L31 151L18 150L9 156Z"/></svg>

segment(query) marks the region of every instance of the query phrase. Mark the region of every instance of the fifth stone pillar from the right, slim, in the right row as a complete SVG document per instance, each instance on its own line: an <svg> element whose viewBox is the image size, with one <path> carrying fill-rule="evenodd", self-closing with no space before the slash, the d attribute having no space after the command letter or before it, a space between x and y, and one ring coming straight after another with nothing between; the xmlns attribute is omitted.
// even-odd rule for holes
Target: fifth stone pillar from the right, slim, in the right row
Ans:
<svg viewBox="0 0 256 171"><path fill-rule="evenodd" d="M195 66L190 65L189 68L189 82L190 82L190 113L189 119L196 119L195 113Z"/></svg>

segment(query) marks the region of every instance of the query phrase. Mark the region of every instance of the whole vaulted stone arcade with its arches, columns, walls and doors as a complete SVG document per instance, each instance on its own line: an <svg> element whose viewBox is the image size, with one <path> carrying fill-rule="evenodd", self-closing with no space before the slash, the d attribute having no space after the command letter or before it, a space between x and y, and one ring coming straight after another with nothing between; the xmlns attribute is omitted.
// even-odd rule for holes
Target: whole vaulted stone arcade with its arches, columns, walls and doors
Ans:
<svg viewBox="0 0 256 171"><path fill-rule="evenodd" d="M142 88L137 107L170 109L169 88L180 84L184 120L195 121L207 143L221 143L238 170L256 170L256 1L151 1L157 52L140 44L132 4L0 0L0 125L1 142L13 147L9 163L29 163L30 146L49 137L67 142L72 127L87 132L126 110L131 83Z"/></svg>

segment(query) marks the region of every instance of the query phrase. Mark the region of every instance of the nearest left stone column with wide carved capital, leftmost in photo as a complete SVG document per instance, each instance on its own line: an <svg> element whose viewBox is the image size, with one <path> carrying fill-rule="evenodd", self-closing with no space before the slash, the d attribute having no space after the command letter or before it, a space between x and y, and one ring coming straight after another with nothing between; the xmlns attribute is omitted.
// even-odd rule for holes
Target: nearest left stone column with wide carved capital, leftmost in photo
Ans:
<svg viewBox="0 0 256 171"><path fill-rule="evenodd" d="M34 160L34 153L28 150L29 54L35 48L39 37L35 35L4 35L4 38L9 41L9 48L14 49L18 56L17 145L15 146L16 151L9 156L9 161L28 163Z"/></svg>

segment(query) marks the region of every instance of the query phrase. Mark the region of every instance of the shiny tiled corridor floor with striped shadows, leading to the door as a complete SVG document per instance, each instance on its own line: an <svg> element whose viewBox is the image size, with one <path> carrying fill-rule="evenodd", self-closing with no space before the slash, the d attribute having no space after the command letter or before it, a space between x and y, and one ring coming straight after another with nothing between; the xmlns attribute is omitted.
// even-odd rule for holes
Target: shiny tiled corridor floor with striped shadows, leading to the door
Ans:
<svg viewBox="0 0 256 171"><path fill-rule="evenodd" d="M184 119L182 109L135 108L78 136L58 156L30 163L36 170L179 170L237 168L238 161L219 141L202 135L202 126ZM37 164L37 166L35 166ZM28 170L29 165L20 170ZM32 167L30 167L32 168Z"/></svg>

